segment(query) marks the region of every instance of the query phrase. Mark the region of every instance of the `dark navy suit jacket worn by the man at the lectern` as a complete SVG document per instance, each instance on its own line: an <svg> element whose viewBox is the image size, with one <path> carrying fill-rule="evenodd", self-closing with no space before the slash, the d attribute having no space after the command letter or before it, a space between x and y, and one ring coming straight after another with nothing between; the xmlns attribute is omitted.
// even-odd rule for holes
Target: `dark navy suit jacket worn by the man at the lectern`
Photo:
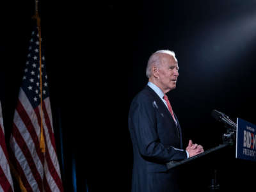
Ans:
<svg viewBox="0 0 256 192"><path fill-rule="evenodd" d="M187 157L185 150L179 150L179 121L176 125L163 100L149 86L132 100L129 131L134 154L132 192L178 191L175 170L168 171L166 163Z"/></svg>

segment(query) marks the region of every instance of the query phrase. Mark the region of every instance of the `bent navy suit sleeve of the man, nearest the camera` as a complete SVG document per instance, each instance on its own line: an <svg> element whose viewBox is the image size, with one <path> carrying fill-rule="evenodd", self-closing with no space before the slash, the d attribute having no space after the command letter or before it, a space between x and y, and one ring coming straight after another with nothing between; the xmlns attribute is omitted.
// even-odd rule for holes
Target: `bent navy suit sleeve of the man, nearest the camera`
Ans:
<svg viewBox="0 0 256 192"><path fill-rule="evenodd" d="M129 124L141 156L156 163L167 163L186 159L186 151L164 146L156 131L156 111L148 99L140 99L131 105Z"/></svg>

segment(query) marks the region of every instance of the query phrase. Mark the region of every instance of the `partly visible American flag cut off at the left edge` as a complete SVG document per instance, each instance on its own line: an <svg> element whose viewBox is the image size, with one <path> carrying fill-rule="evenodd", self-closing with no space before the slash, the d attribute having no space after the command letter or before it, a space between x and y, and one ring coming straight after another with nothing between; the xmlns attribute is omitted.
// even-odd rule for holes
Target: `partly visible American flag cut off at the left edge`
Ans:
<svg viewBox="0 0 256 192"><path fill-rule="evenodd" d="M3 113L0 102L0 191L13 191L12 175L10 172L8 152L4 138Z"/></svg>

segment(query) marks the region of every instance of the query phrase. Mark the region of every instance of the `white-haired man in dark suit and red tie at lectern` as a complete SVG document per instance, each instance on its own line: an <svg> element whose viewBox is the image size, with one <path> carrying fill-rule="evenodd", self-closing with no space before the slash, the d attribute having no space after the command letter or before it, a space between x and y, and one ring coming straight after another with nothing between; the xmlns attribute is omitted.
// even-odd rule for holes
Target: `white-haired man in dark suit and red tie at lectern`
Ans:
<svg viewBox="0 0 256 192"><path fill-rule="evenodd" d="M179 191L177 170L167 170L166 163L204 152L201 145L191 140L186 150L182 149L180 124L166 95L176 88L178 70L174 52L154 52L147 65L148 84L132 100L132 192Z"/></svg>

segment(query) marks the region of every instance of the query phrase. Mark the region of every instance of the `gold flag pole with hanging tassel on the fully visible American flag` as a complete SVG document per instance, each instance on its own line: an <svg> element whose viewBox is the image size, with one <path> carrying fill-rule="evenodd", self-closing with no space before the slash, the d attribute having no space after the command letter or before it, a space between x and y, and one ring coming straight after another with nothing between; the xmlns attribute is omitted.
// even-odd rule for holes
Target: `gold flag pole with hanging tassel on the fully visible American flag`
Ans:
<svg viewBox="0 0 256 192"><path fill-rule="evenodd" d="M40 25L40 17L38 14L38 1L35 0L35 15L33 19L36 19L38 35L39 35L39 64L40 64L40 116L41 116L41 126L40 126L40 148L42 152L45 152L45 140L44 140L44 126L43 126L43 95L42 95L42 42L41 42L41 25Z"/></svg>

